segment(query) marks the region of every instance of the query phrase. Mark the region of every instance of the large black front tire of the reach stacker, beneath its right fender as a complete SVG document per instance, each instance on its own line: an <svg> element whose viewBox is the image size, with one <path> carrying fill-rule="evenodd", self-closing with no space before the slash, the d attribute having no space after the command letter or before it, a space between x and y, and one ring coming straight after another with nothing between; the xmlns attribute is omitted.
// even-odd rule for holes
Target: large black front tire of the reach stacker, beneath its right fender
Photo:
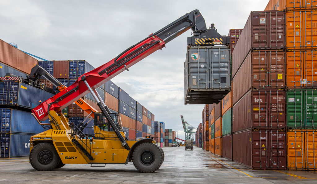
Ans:
<svg viewBox="0 0 317 184"><path fill-rule="evenodd" d="M163 161L164 152L156 144L141 143L133 151L133 165L142 173L155 172L161 167Z"/></svg>

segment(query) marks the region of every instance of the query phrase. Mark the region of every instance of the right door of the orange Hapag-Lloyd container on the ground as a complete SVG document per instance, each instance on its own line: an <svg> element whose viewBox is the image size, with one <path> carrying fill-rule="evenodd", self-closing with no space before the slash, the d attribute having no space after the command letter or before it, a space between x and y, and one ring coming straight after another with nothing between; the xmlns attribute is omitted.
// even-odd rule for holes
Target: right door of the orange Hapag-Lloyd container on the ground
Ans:
<svg viewBox="0 0 317 184"><path fill-rule="evenodd" d="M305 168L316 169L317 166L317 130L306 130L305 136Z"/></svg>

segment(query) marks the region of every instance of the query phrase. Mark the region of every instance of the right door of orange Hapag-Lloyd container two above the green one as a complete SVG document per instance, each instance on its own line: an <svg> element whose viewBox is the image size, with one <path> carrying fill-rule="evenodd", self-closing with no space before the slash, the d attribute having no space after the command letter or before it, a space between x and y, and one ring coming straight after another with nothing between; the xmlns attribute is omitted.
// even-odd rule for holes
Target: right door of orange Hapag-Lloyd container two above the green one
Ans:
<svg viewBox="0 0 317 184"><path fill-rule="evenodd" d="M317 10L303 12L303 35L305 48L317 48Z"/></svg>

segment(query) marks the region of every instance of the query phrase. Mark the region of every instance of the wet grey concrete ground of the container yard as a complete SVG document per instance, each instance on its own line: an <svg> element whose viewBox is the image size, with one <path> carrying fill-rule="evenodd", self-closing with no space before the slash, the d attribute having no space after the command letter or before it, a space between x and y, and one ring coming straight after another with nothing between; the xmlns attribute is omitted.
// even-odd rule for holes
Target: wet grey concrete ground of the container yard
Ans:
<svg viewBox="0 0 317 184"><path fill-rule="evenodd" d="M197 147L163 149L165 161L155 173L139 173L132 163L36 171L28 157L0 159L0 183L317 183L314 171L251 170Z"/></svg>

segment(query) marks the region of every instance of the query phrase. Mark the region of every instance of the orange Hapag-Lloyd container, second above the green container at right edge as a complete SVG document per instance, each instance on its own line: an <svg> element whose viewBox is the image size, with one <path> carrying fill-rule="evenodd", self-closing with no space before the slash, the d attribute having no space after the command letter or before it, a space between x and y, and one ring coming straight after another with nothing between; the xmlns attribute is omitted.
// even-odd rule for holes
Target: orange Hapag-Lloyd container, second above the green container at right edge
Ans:
<svg viewBox="0 0 317 184"><path fill-rule="evenodd" d="M287 10L286 47L288 49L317 48L316 22L317 9Z"/></svg>

